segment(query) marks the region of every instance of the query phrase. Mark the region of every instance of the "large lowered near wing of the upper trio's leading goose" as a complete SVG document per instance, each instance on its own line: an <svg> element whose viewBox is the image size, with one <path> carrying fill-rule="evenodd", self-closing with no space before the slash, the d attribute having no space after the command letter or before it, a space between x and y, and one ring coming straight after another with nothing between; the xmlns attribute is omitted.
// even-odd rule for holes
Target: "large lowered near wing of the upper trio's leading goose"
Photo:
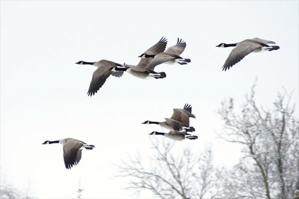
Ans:
<svg viewBox="0 0 299 199"><path fill-rule="evenodd" d="M88 89L88 96L95 95L99 89L104 85L107 78L113 73L111 71L112 67L110 66L102 66L98 67L97 70L92 74L92 79Z"/></svg>

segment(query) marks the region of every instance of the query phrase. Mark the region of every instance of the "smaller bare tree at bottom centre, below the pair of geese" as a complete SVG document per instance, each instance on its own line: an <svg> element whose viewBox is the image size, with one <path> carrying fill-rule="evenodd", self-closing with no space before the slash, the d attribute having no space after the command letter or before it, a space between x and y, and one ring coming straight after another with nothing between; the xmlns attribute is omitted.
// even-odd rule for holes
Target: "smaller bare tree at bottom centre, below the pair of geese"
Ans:
<svg viewBox="0 0 299 199"><path fill-rule="evenodd" d="M140 156L123 162L118 177L130 178L125 189L139 194L142 190L151 191L160 199L214 199L220 190L221 171L213 166L213 156L206 148L200 156L190 148L181 153L172 151L174 141L151 140L154 154L150 167L146 167Z"/></svg>

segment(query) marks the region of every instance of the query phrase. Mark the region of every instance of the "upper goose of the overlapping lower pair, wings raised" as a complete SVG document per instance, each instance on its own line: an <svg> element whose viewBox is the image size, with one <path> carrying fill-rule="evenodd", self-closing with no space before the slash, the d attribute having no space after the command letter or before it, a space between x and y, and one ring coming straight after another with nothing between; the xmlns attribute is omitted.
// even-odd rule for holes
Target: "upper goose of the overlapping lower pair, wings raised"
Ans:
<svg viewBox="0 0 299 199"><path fill-rule="evenodd" d="M191 111L191 105L185 104L183 109L173 108L172 116L170 118L165 118L166 121L157 122L147 120L143 122L143 124L158 124L163 128L176 132L193 132L195 129L192 126L189 126L189 117L195 118L195 116Z"/></svg>

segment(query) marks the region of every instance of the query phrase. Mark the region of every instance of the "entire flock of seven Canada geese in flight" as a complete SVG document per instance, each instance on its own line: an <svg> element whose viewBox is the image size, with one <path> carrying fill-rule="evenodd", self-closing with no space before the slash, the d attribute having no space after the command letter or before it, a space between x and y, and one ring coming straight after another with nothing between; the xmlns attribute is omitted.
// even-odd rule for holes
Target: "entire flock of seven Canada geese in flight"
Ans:
<svg viewBox="0 0 299 199"><path fill-rule="evenodd" d="M222 70L229 70L233 65L240 62L246 55L252 52L272 51L278 50L279 46L270 46L268 44L275 44L274 41L264 40L260 38L246 39L239 43L226 44L220 43L216 47L231 47L235 48L231 51L226 59ZM112 75L114 77L122 77L124 72L127 72L137 78L141 79L162 79L166 77L164 72L155 72L154 68L160 64L180 64L185 65L191 62L190 59L182 58L180 55L185 50L186 42L182 39L177 39L175 45L167 48L167 39L162 37L156 44L151 46L148 50L142 53L137 65L118 64L109 60L100 60L98 62L79 61L79 65L93 65L97 67L92 75L92 79L88 89L88 96L95 95L99 89L104 85L107 78ZM173 108L173 114L170 118L165 118L163 122L145 121L143 124L157 124L169 130L168 133L153 131L149 135L163 135L172 140L189 140L197 139L196 135L191 135L188 132L194 132L195 129L189 126L189 118L195 118L191 113L192 107L185 104L181 108ZM77 165L82 156L82 150L92 150L95 146L86 144L80 140L73 138L65 138L56 141L46 140L42 144L60 143L63 145L63 159L66 169L71 169Z"/></svg>

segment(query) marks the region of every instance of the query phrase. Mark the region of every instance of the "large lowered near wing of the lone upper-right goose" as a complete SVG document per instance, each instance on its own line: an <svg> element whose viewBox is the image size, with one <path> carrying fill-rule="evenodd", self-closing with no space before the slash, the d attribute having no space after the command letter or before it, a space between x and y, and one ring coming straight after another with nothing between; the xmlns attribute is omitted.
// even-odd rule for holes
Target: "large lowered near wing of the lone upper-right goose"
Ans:
<svg viewBox="0 0 299 199"><path fill-rule="evenodd" d="M261 45L244 42L235 47L226 59L222 70L226 71L236 63L240 62L246 55L260 48Z"/></svg>

